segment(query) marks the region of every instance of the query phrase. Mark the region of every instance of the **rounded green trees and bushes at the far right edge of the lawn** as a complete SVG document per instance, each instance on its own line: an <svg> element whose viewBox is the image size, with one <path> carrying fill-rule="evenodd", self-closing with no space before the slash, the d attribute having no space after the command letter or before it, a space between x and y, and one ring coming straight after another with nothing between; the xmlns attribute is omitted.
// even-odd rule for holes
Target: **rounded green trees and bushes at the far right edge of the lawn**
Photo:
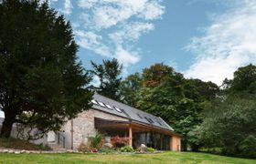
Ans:
<svg viewBox="0 0 256 164"><path fill-rule="evenodd" d="M230 156L256 158L256 67L240 67L225 80L221 97L208 104L203 123L190 132L206 148Z"/></svg>

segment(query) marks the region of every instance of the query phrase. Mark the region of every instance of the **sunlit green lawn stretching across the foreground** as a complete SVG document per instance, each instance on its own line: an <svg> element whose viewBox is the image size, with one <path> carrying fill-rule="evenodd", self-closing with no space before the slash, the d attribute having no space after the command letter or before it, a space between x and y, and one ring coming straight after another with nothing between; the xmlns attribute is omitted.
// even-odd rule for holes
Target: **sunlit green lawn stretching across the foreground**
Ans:
<svg viewBox="0 0 256 164"><path fill-rule="evenodd" d="M0 154L0 163L203 163L252 164L255 159L239 159L195 152L159 154Z"/></svg>

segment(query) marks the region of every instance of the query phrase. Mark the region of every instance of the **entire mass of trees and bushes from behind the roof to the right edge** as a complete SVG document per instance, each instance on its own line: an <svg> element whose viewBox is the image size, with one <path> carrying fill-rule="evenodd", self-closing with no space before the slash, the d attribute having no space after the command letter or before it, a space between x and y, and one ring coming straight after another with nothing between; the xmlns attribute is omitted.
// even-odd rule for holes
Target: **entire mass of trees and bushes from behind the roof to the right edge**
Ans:
<svg viewBox="0 0 256 164"><path fill-rule="evenodd" d="M240 67L218 87L186 79L172 67L155 64L123 80L123 101L159 116L183 135L184 150L219 149L255 157L256 67Z"/></svg>

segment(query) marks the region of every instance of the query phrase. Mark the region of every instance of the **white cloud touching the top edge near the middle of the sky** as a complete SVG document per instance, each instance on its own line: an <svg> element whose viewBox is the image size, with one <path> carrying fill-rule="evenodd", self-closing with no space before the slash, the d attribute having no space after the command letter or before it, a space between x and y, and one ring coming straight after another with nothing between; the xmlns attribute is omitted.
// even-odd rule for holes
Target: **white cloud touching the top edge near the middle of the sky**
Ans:
<svg viewBox="0 0 256 164"><path fill-rule="evenodd" d="M99 1L92 10L92 24L97 29L109 28L133 16L154 20L160 18L164 12L165 7L159 5L157 0L104 0Z"/></svg>

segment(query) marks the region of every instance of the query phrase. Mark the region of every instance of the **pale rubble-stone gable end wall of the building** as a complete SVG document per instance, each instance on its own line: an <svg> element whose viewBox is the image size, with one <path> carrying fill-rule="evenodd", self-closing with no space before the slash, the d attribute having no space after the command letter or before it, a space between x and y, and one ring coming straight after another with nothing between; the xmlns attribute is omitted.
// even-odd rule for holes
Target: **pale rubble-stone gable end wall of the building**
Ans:
<svg viewBox="0 0 256 164"><path fill-rule="evenodd" d="M126 118L121 118L101 112L100 110L90 109L86 110L73 119L73 149L78 149L81 142L87 142L88 137L96 135L94 126L94 118L103 118L111 120L127 121ZM71 120L62 129L62 135L66 138L66 149L71 149Z"/></svg>

